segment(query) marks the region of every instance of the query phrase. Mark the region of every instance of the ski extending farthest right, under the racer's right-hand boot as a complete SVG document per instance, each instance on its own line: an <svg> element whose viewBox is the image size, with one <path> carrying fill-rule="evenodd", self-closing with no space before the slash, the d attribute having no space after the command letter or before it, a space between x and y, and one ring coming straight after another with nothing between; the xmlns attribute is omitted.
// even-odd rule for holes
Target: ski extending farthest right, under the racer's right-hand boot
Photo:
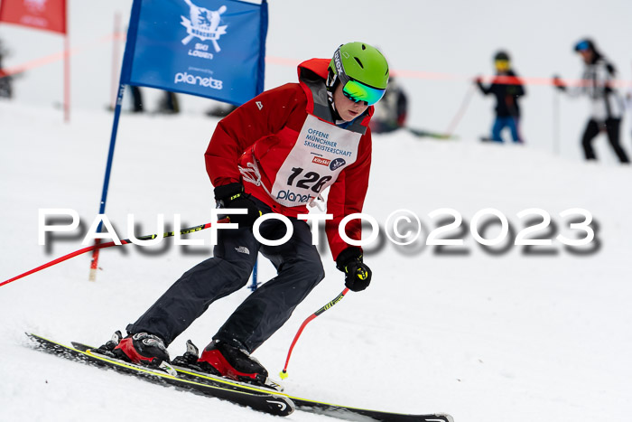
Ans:
<svg viewBox="0 0 632 422"><path fill-rule="evenodd" d="M89 352L90 349L94 349L86 344L79 342L72 342L72 345L81 351ZM174 360L175 361L175 360ZM388 421L388 422L453 422L450 415L437 413L428 415L411 415L401 414L393 412L385 412L380 410L371 410L366 408L351 408L348 406L342 406L337 404L325 403L312 399L302 399L292 396L290 394L275 390L267 389L265 387L257 387L253 384L247 384L245 382L239 382L235 380L228 380L226 378L217 377L208 373L203 373L198 370L191 369L190 367L180 366L172 364L172 368L177 371L178 377L182 380L191 380L194 382L200 382L209 384L214 387L220 387L223 389L233 389L237 391L247 391L255 393L274 394L277 396L283 396L293 402L297 410L316 413L329 417L336 417L343 420L364 420L364 421Z"/></svg>

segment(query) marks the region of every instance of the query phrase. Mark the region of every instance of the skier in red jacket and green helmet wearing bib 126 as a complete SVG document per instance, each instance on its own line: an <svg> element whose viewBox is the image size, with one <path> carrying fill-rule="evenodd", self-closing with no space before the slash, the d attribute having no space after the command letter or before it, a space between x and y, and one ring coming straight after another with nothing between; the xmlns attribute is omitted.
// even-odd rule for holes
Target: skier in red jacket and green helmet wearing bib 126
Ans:
<svg viewBox="0 0 632 422"><path fill-rule="evenodd" d="M298 67L299 83L265 91L223 118L205 153L218 207L237 230L218 230L213 258L182 275L134 324L128 335L107 342L100 352L151 366L169 361L167 347L215 300L246 286L257 253L270 259L277 276L256 289L218 330L197 366L234 380L265 384L267 371L250 356L278 330L296 305L324 277L318 250L311 244L306 205L330 187L325 230L345 286L360 291L371 270L362 249L339 235L339 222L362 211L371 164L368 122L384 95L388 64L363 42L341 45L333 59L311 59ZM245 209L246 214L232 212ZM287 217L293 236L267 246L253 234L266 213ZM260 225L265 239L281 239L283 221ZM361 239L359 220L347 225L350 239Z"/></svg>

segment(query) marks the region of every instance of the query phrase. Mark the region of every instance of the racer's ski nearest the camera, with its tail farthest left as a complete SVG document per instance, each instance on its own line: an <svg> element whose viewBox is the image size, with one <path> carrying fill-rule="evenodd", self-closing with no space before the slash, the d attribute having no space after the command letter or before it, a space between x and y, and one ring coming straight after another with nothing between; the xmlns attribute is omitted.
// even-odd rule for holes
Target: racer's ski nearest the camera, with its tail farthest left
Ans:
<svg viewBox="0 0 632 422"><path fill-rule="evenodd" d="M53 342L33 333L26 333L33 341L33 346L43 352L49 352L72 361L80 361L102 369L112 369L125 374L134 375L156 384L172 386L176 389L191 391L196 394L227 400L240 406L269 413L275 416L290 415L295 406L286 395L276 394L269 390L230 389L222 385L213 385L209 382L174 377L161 370L138 366L106 356L91 353L89 350L81 351L74 347Z"/></svg>

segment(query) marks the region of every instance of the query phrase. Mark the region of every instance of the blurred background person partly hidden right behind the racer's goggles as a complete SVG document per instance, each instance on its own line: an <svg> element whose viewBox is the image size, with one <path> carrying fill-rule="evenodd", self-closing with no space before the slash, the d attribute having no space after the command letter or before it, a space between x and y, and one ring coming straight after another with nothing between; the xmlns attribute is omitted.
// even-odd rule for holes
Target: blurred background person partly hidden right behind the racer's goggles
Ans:
<svg viewBox="0 0 632 422"><path fill-rule="evenodd" d="M371 117L371 132L375 134L393 132L404 127L408 112L408 99L395 77L391 75L384 97L376 104L376 110Z"/></svg>

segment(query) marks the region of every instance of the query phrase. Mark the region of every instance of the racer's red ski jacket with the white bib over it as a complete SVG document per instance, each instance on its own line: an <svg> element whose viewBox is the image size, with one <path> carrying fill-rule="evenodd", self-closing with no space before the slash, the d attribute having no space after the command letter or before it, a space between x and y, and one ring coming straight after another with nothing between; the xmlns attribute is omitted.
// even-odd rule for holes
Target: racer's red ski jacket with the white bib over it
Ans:
<svg viewBox="0 0 632 422"><path fill-rule="evenodd" d="M306 205L330 187L333 220L325 230L335 259L349 246L339 222L362 211L367 193L373 107L347 127L337 126L343 122L334 122L325 88L329 63L303 62L300 83L267 90L223 118L204 158L214 186L243 183L247 193L287 217L306 214ZM360 220L346 228L350 239L361 239Z"/></svg>

